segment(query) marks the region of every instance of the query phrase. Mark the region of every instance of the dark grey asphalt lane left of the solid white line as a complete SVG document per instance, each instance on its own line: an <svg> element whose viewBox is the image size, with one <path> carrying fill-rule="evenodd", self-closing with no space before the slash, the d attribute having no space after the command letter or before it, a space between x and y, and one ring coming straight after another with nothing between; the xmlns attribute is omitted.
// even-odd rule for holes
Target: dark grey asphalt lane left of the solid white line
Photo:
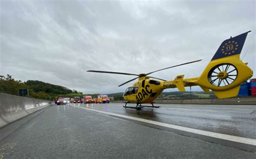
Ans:
<svg viewBox="0 0 256 159"><path fill-rule="evenodd" d="M102 109L104 106L106 111L110 111L111 105L118 106L99 104L93 105L92 109ZM151 116L157 118L156 115ZM0 129L0 134L11 125ZM72 105L54 105L29 118L0 141L0 148L0 158L256 157L255 153L249 151L190 138Z"/></svg>

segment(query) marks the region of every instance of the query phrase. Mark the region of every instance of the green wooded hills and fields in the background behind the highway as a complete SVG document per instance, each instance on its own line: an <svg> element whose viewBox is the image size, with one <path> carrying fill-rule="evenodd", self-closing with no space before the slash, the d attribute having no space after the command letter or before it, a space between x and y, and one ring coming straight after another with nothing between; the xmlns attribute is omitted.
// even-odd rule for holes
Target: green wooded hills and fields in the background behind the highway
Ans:
<svg viewBox="0 0 256 159"><path fill-rule="evenodd" d="M78 92L76 90L70 90L64 86L45 83L37 80L28 80L26 82L22 82L21 80L16 80L12 78L11 75L2 76L0 75L0 92L8 93L11 95L18 96L19 89L28 89L29 97L37 98L37 99L57 99L58 97L74 97L85 96L83 92ZM208 94L205 92L196 92L197 94ZM89 95L89 94L87 94ZM92 98L97 98L98 94L89 95ZM114 100L124 100L123 92L112 93L108 95L109 97L114 97ZM158 97L159 99L164 96L171 96L169 98L200 98L198 95L190 95L190 92L162 92ZM210 98L214 98L215 95L213 92L209 93Z"/></svg>

